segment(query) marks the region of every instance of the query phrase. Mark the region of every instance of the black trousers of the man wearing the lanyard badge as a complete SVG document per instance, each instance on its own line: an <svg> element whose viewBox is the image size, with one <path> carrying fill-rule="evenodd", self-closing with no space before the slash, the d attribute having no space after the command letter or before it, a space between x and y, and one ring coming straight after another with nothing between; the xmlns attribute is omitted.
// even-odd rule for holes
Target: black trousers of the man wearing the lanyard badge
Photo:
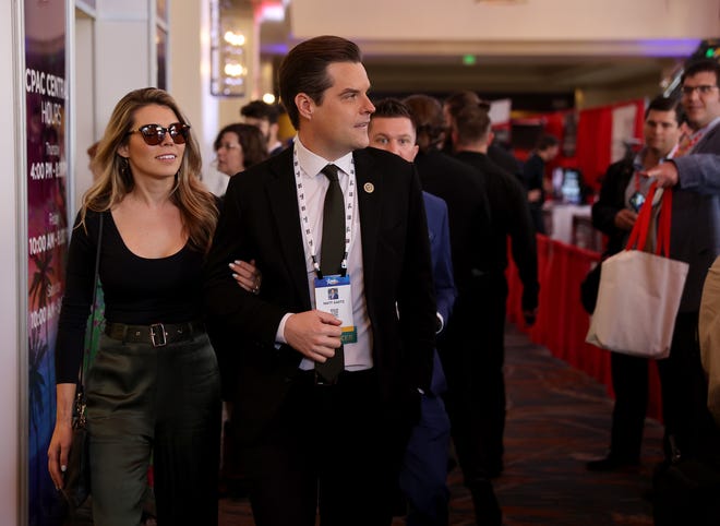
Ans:
<svg viewBox="0 0 720 526"><path fill-rule="evenodd" d="M257 526L389 525L405 444L395 440L373 370L315 385L293 380L260 443L245 445Z"/></svg>

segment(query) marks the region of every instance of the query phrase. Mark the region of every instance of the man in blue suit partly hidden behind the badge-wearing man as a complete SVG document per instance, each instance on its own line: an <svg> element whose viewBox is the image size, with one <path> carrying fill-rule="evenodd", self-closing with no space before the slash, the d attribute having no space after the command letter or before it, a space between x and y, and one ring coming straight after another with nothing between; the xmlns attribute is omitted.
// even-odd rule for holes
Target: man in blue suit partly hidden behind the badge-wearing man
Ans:
<svg viewBox="0 0 720 526"><path fill-rule="evenodd" d="M415 160L418 154L416 131L408 108L397 99L375 104L370 121L370 145ZM422 192L428 216L428 232L437 299L437 333L449 320L456 290L453 279L447 205ZM412 429L400 471L400 489L408 500L408 526L445 526L448 519L447 451L449 419L441 395L447 390L437 352L434 355L432 387L422 397L420 421Z"/></svg>

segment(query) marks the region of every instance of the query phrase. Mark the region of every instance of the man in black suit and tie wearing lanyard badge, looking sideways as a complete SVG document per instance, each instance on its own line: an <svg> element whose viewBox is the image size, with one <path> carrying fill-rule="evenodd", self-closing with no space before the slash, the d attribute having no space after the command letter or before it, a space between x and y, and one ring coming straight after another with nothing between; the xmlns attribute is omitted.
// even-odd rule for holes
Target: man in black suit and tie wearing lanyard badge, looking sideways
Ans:
<svg viewBox="0 0 720 526"><path fill-rule="evenodd" d="M360 60L332 36L286 56L293 147L231 180L208 255L207 309L225 327L218 354L233 355L224 380L259 526L314 525L316 506L323 525L388 525L430 390L436 309L420 184L411 164L362 150L374 107ZM341 217L326 220L338 193ZM326 253L343 224L339 254ZM259 294L233 284L236 260L255 260ZM349 315L316 308L329 280ZM339 375L320 366L338 363Z"/></svg>

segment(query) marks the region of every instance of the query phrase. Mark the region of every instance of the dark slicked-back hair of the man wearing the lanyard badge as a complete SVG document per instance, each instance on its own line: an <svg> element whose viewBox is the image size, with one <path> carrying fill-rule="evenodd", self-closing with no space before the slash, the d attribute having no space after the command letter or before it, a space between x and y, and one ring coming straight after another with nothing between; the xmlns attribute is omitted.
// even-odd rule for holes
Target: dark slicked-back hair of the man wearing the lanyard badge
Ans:
<svg viewBox="0 0 720 526"><path fill-rule="evenodd" d="M360 48L339 36L319 36L290 49L280 63L278 81L280 100L292 125L296 129L300 127L300 112L295 104L296 95L304 93L315 104L323 104L325 89L333 85L327 74L327 67L335 62L361 61Z"/></svg>

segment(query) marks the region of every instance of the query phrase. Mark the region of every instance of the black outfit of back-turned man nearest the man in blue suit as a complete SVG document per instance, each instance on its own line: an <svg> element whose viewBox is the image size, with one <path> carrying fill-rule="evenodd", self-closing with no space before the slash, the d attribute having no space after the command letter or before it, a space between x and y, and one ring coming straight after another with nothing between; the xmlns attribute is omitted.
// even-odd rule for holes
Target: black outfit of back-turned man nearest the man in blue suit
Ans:
<svg viewBox="0 0 720 526"><path fill-rule="evenodd" d="M457 298L437 351L447 378L445 397L452 434L465 483L472 487L487 470L478 453L478 437L466 425L477 414L472 385L475 371L484 368L487 335L479 325L485 302L490 258L490 206L483 181L475 170L439 151L420 152L415 158L422 189L447 204L451 252ZM501 327L502 331L502 327ZM477 367L476 367L477 366Z"/></svg>

